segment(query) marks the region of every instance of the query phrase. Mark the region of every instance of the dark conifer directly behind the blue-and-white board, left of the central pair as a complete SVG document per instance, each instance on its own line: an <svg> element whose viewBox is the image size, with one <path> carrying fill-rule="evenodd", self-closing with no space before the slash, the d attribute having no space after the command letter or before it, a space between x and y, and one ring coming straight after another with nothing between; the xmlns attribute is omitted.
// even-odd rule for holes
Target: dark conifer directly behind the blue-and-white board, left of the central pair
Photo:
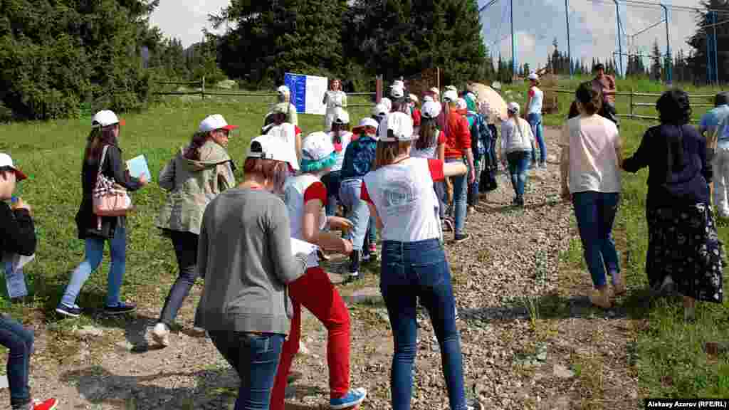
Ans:
<svg viewBox="0 0 729 410"><path fill-rule="evenodd" d="M284 72L338 75L343 71L342 15L346 0L232 0L211 18L219 64L231 78L281 82Z"/></svg>

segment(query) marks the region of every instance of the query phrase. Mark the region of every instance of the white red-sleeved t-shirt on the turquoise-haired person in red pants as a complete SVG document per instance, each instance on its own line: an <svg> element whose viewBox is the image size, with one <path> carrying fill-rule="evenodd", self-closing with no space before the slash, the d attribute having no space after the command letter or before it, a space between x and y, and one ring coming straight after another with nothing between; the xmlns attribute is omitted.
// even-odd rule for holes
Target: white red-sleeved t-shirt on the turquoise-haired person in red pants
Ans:
<svg viewBox="0 0 729 410"><path fill-rule="evenodd" d="M286 209L289 210L292 238L305 240L303 236L304 206L308 201L314 199L321 201L321 212L319 212L319 230L321 231L327 225L327 214L324 211L324 206L327 205L327 187L324 187L319 177L312 174L300 174L286 179L284 203ZM306 261L307 268L313 266L319 266L316 252L309 255Z"/></svg>

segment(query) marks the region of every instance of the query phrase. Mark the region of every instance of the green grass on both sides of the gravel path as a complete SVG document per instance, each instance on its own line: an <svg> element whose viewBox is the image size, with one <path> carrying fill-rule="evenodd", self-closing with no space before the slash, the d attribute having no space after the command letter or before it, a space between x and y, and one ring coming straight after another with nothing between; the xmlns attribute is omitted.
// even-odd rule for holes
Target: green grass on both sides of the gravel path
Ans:
<svg viewBox="0 0 729 410"><path fill-rule="evenodd" d="M587 80L587 79L580 79ZM574 89L579 80L560 84ZM659 85L645 82L618 81L620 90L660 92ZM714 93L712 89L689 88L694 93ZM526 84L510 86L510 100L525 102ZM566 118L569 96L561 96L560 112L545 117L545 123L561 125ZM644 100L645 102L652 102ZM220 113L229 123L241 125L239 134L230 139L228 150L240 166L249 139L259 134L262 117L270 100L261 98L170 98L147 112L128 114L122 128L120 145L125 158L144 154L155 176L166 161L190 139L200 120L208 114ZM618 111L627 112L628 101L618 99ZM706 109L695 109L695 117ZM655 115L650 109L645 115ZM369 115L369 109L352 109L352 123ZM321 129L321 117L300 115L305 133ZM621 134L625 152L636 150L650 122L623 120ZM90 118L58 120L47 123L0 125L0 152L9 152L17 165L31 178L19 185L18 194L34 206L39 235L37 258L26 267L26 278L34 301L26 306L10 305L0 289L0 312L11 312L27 321L44 320L63 323L53 312L66 286L70 272L83 258L83 242L76 237L74 215L80 198L82 150L90 128ZM236 175L240 179L241 175ZM623 201L616 222L616 236L629 252L625 276L633 296L627 299L630 314L636 319L634 369L638 372L645 397L729 397L729 357L726 353L708 356L703 352L706 341L728 341L729 303L722 306L701 303L695 324L683 322L680 301L658 300L643 303L646 285L644 255L647 227L644 220L645 179L647 171L626 174L623 179ZM176 276L176 261L170 241L154 227L157 210L164 193L155 182L138 193L133 201L138 212L129 218L127 274L122 297L129 301L152 300L161 303L168 284ZM729 227L722 223L720 235L729 241ZM574 263L581 263L579 242ZM77 303L85 308L101 307L106 293L108 257L101 271L90 277ZM0 281L4 287L4 281ZM85 319L87 320L87 319Z"/></svg>

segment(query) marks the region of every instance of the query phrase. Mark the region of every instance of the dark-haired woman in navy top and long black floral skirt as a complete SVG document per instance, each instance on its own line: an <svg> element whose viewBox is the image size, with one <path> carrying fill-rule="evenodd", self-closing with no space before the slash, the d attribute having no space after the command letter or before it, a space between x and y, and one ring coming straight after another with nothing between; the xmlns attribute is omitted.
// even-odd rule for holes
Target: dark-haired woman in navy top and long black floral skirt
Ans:
<svg viewBox="0 0 729 410"><path fill-rule="evenodd" d="M649 128L623 169L648 167L648 251L646 273L655 290L684 296L685 318L695 317L695 302L722 303L722 244L709 203L711 163L706 139L687 125L687 93L670 90L656 102L660 125Z"/></svg>

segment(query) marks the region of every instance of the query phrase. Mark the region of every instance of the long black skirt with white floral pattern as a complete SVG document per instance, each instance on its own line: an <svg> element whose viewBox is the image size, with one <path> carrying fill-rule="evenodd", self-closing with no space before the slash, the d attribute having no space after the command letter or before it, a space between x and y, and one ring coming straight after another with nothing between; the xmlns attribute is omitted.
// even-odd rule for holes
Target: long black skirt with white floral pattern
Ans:
<svg viewBox="0 0 729 410"><path fill-rule="evenodd" d="M651 287L670 275L681 295L722 303L723 245L707 204L647 210L646 273Z"/></svg>

